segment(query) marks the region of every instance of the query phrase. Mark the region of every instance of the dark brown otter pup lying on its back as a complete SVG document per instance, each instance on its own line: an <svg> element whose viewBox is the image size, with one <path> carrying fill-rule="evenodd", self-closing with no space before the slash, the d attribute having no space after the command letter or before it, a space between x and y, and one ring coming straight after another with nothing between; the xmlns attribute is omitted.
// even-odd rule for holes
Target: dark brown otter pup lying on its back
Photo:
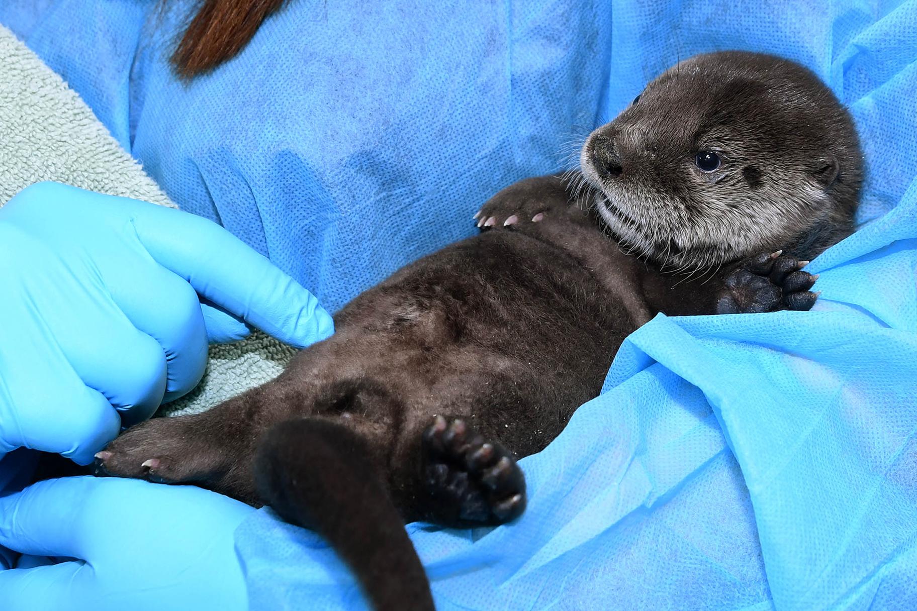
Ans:
<svg viewBox="0 0 917 611"><path fill-rule="evenodd" d="M322 533L376 608L433 608L403 520L519 516L516 458L599 393L657 312L810 309L801 267L851 232L862 173L823 83L741 52L650 82L580 165L499 192L481 235L359 295L277 379L130 429L96 473L269 504Z"/></svg>

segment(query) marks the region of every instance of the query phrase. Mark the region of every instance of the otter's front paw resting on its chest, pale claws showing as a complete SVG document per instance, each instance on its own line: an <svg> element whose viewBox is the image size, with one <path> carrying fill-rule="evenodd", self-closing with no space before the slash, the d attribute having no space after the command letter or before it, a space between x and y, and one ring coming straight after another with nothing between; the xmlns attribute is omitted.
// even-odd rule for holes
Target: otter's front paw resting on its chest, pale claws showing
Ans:
<svg viewBox="0 0 917 611"><path fill-rule="evenodd" d="M556 218L585 222L587 214L573 202L564 181L558 176L522 180L494 195L474 215L481 231L518 230Z"/></svg>

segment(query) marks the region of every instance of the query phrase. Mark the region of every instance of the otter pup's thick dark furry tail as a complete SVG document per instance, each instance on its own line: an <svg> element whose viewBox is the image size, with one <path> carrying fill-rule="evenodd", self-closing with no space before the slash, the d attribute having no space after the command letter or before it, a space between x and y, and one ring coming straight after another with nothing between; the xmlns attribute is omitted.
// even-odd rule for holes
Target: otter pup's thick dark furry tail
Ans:
<svg viewBox="0 0 917 611"><path fill-rule="evenodd" d="M404 522L355 433L327 420L282 422L260 442L255 481L282 518L328 540L376 609L434 609Z"/></svg>

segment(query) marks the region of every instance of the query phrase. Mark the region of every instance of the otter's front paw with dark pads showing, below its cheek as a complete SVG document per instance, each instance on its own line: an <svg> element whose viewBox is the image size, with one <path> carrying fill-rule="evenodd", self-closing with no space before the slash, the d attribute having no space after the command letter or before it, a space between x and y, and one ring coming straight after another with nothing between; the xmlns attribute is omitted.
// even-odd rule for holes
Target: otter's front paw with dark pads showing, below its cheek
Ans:
<svg viewBox="0 0 917 611"><path fill-rule="evenodd" d="M753 256L726 276L724 294L716 302L716 312L811 310L818 293L809 289L818 276L801 271L808 261L781 253Z"/></svg>

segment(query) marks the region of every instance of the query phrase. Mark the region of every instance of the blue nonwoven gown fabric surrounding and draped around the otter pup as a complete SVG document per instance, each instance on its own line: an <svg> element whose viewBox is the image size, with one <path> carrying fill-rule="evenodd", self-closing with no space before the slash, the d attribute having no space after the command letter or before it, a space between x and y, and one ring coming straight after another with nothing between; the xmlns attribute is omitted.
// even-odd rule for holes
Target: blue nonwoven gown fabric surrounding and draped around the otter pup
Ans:
<svg viewBox="0 0 917 611"><path fill-rule="evenodd" d="M679 58L816 71L867 185L860 231L810 266L814 310L658 316L522 461L523 518L408 528L442 609L917 608L917 2L293 0L185 85L164 59L188 5L7 0L0 22L184 209L330 309L471 235L489 195L561 167ZM253 609L365 606L270 510L238 551Z"/></svg>

